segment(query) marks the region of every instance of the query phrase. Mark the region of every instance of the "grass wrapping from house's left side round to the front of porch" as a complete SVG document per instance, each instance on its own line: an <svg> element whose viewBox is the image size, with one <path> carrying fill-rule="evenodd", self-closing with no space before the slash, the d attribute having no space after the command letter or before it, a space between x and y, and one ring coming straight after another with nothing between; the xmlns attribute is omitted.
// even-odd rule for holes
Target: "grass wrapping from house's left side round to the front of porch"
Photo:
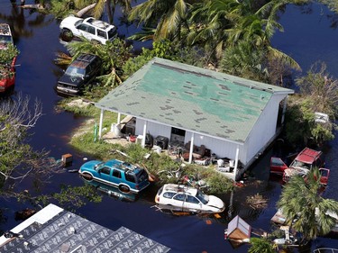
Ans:
<svg viewBox="0 0 338 253"><path fill-rule="evenodd" d="M233 181L218 173L213 165L203 167L196 164L187 164L185 167L180 167L180 161L170 158L165 153L158 154L149 149L143 149L140 144L131 142L126 146L122 146L120 144L108 143L105 140L98 140L98 136L95 138L94 130L96 127L96 131L98 131L101 110L90 103L87 103L86 106L82 106L83 104L79 102L74 103L77 100L82 101L78 98L69 98L59 103L59 108L63 110L78 115L90 116L86 122L73 132L70 145L74 149L99 160L116 158L132 164L138 164L141 167L145 167L151 175L156 176L159 185L166 183L178 184L182 182L183 176L188 176L190 178L195 177L205 180L206 184L209 185L207 194L224 194L233 189ZM110 131L113 122L117 122L117 113L105 111L102 136L107 131ZM122 151L128 157L123 156L116 150ZM148 153L151 153L151 157L144 158ZM161 171L176 171L178 168L180 168L180 176L169 176L168 173L159 173Z"/></svg>

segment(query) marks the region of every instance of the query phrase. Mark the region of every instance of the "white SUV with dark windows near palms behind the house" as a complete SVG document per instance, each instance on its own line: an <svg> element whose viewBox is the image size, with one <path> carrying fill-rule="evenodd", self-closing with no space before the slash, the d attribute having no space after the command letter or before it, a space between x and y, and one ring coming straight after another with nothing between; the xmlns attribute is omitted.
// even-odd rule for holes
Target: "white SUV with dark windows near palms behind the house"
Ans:
<svg viewBox="0 0 338 253"><path fill-rule="evenodd" d="M96 20L93 17L86 19L69 16L59 24L61 38L70 41L73 37L85 37L89 41L105 44L106 41L114 41L117 36L116 27L113 24Z"/></svg>

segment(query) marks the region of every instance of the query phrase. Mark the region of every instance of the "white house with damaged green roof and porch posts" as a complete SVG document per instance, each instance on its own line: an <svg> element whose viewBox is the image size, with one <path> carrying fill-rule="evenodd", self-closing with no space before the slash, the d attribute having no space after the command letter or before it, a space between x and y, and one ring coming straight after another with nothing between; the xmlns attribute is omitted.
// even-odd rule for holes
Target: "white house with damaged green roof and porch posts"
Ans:
<svg viewBox="0 0 338 253"><path fill-rule="evenodd" d="M233 160L233 177L245 171L279 134L291 89L154 58L102 98L104 111L130 115L134 134L168 138L217 158ZM119 122L118 122L119 123ZM142 138L142 145L145 138ZM241 166L240 166L241 165ZM239 168L242 168L239 171Z"/></svg>

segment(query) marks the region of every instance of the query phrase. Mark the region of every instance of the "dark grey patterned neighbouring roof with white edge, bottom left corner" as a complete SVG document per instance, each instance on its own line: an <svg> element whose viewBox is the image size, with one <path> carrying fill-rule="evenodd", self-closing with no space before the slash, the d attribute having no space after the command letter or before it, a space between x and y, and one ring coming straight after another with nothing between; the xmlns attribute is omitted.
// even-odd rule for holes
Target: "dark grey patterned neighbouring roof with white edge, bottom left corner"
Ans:
<svg viewBox="0 0 338 253"><path fill-rule="evenodd" d="M0 252L168 252L170 248L121 227L109 230L49 204L0 237Z"/></svg>

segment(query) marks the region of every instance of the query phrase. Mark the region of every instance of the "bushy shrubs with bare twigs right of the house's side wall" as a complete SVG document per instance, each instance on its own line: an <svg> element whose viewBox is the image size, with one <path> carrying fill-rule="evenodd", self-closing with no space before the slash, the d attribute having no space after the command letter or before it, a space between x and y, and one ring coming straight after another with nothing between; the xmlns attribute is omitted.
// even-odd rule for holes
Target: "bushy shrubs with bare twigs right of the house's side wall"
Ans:
<svg viewBox="0 0 338 253"><path fill-rule="evenodd" d="M309 144L309 140L321 145L327 140L333 140L333 130L337 127L334 122L338 80L330 77L324 63L317 62L306 76L298 77L296 82L300 95L293 95L288 100L285 129L287 140L294 145ZM329 121L316 121L315 113L327 114Z"/></svg>

